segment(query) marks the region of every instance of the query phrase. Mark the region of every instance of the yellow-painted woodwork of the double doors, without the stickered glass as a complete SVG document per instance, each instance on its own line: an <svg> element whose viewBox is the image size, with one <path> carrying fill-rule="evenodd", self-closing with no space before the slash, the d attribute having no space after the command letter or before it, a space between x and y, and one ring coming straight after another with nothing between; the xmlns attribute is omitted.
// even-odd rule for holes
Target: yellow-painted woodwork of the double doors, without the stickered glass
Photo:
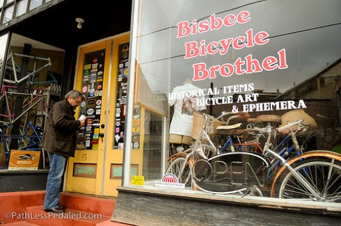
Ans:
<svg viewBox="0 0 341 226"><path fill-rule="evenodd" d="M77 150L74 158L68 162L66 191L88 193L93 195L117 196L116 188L121 185L122 179L114 175L117 170L122 170L122 149L114 149L115 120L116 120L116 92L118 89L118 51L122 44L129 43L129 33L118 35L108 40L103 40L95 44L79 47L79 59L75 78L75 88L81 90L83 84L84 54L106 49L104 63L104 81L102 95L102 110L100 124L104 128L100 133L104 138L100 138L98 150ZM77 112L76 117L79 115ZM141 142L140 142L141 143ZM143 154L142 149L136 149L136 156L132 165L137 166L139 174L142 173ZM78 164L78 165L77 165ZM95 168L95 178L74 175L74 166L77 169L83 167L90 172Z"/></svg>

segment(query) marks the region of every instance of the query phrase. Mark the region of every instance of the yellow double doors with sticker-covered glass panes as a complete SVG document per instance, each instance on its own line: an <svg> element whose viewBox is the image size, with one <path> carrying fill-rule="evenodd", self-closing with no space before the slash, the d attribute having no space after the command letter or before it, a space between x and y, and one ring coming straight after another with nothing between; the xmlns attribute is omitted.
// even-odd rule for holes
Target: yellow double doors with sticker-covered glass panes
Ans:
<svg viewBox="0 0 341 226"><path fill-rule="evenodd" d="M122 179L128 64L129 34L79 47L75 84L84 94L84 102L76 118L85 115L87 119L79 130L75 156L68 162L66 191L117 196Z"/></svg>

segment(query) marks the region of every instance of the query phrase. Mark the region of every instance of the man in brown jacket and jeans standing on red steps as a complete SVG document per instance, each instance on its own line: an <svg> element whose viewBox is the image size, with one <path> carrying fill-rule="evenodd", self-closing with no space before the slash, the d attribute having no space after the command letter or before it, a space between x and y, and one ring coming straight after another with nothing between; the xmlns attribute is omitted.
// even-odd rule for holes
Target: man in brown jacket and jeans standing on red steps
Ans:
<svg viewBox="0 0 341 226"><path fill-rule="evenodd" d="M63 213L65 207L59 205L61 179L68 157L74 156L77 142L77 130L84 120L75 120L74 110L84 97L81 92L71 90L65 99L52 106L47 118L41 144L49 152L49 175L47 176L44 209L46 212Z"/></svg>

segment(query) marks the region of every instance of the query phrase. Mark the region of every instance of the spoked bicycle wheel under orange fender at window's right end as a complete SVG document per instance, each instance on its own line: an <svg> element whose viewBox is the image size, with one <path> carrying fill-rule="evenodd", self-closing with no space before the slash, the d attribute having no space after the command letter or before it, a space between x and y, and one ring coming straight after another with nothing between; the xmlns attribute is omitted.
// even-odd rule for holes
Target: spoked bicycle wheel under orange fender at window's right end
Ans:
<svg viewBox="0 0 341 226"><path fill-rule="evenodd" d="M323 202L341 202L341 163L334 159L304 159L292 166L312 188L319 193ZM282 184L276 188L276 197L285 199L316 200L292 172L281 177Z"/></svg>

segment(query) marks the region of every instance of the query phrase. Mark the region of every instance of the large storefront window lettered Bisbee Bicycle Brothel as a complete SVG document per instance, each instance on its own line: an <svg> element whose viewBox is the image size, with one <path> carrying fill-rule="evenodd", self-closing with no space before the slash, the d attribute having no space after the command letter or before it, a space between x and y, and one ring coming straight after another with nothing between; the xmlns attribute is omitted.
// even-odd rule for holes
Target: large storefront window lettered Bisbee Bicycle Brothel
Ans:
<svg viewBox="0 0 341 226"><path fill-rule="evenodd" d="M134 98L170 156L152 186L341 201L340 1L136 7Z"/></svg>

